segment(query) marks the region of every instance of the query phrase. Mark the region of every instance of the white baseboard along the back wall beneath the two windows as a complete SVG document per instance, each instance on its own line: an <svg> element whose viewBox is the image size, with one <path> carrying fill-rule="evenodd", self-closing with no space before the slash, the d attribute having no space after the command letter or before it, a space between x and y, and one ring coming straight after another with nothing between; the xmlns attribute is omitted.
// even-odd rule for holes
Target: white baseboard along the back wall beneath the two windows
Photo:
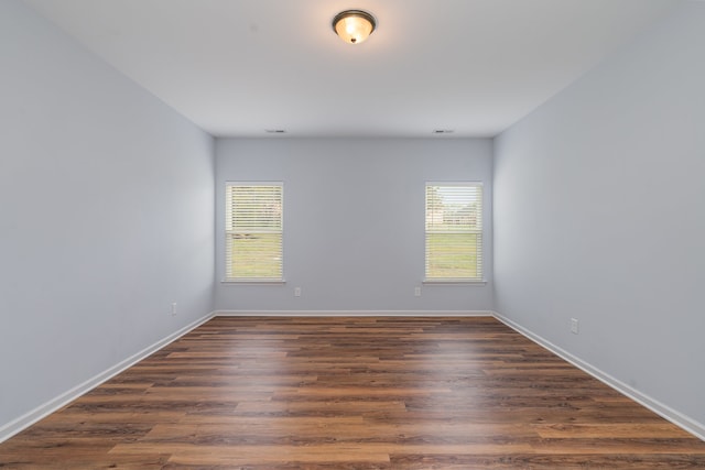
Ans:
<svg viewBox="0 0 705 470"><path fill-rule="evenodd" d="M492 317L491 310L216 310L216 317Z"/></svg>

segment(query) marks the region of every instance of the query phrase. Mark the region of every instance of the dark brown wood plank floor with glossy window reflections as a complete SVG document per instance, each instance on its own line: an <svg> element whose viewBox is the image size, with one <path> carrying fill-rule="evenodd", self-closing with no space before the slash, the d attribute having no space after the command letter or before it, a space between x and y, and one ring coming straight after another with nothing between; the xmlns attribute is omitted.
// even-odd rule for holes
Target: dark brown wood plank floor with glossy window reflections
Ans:
<svg viewBox="0 0 705 470"><path fill-rule="evenodd" d="M705 442L494 318L218 317L0 468L705 469Z"/></svg>

